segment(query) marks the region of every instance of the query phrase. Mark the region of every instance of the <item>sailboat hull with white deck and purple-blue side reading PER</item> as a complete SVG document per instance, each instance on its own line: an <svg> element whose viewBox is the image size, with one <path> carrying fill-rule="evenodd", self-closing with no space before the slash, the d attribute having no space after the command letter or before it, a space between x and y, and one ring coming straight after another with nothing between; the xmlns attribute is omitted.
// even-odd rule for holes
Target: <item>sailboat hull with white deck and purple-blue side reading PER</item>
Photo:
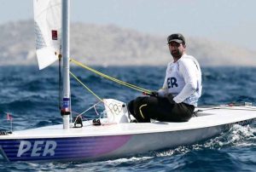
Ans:
<svg viewBox="0 0 256 172"><path fill-rule="evenodd" d="M62 125L27 129L0 136L6 161L76 161L131 156L206 140L256 118L247 107L210 109L186 123L115 123L62 129ZM256 110L256 109L255 109Z"/></svg>

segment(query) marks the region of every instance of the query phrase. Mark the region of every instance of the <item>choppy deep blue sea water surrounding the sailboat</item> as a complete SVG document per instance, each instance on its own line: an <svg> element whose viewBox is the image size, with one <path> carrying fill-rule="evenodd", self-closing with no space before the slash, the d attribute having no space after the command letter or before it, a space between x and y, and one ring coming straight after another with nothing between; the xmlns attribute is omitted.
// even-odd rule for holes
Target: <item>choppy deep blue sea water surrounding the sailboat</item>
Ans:
<svg viewBox="0 0 256 172"><path fill-rule="evenodd" d="M166 66L94 66L100 72L144 89L162 86ZM71 66L71 71L101 98L128 102L141 93L96 74ZM203 92L199 105L252 102L256 105L256 68L203 67ZM0 67L0 123L13 130L62 123L59 112L58 67L38 71L38 66ZM73 114L84 112L98 100L71 77ZM102 106L98 106L98 111ZM95 118L92 109L84 118ZM234 125L229 131L190 146L137 154L97 162L0 162L0 171L256 171L256 122Z"/></svg>

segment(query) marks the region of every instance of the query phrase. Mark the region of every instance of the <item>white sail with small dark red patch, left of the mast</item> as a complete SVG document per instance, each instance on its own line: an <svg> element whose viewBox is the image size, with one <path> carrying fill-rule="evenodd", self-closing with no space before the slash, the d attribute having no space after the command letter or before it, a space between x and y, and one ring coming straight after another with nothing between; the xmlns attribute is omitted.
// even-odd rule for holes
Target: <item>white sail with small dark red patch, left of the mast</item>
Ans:
<svg viewBox="0 0 256 172"><path fill-rule="evenodd" d="M39 69L61 52L61 0L34 0L34 24Z"/></svg>

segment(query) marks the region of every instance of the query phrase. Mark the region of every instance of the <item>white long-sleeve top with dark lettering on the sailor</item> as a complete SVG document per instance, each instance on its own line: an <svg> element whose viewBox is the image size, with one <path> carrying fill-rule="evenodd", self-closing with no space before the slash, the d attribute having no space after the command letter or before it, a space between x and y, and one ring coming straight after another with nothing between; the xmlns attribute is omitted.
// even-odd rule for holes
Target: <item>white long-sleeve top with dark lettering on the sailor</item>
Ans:
<svg viewBox="0 0 256 172"><path fill-rule="evenodd" d="M175 102L197 106L201 89L201 68L198 61L191 55L183 54L175 63L168 64L165 82L159 94L171 93Z"/></svg>

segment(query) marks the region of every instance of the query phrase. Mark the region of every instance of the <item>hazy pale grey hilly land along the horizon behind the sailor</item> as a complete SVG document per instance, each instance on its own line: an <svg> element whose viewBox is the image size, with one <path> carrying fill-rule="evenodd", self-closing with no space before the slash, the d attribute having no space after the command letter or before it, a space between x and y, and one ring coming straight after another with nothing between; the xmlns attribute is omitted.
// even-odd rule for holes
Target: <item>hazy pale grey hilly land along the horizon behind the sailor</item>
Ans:
<svg viewBox="0 0 256 172"><path fill-rule="evenodd" d="M37 64L32 20L6 23L0 31L0 66ZM201 66L256 66L255 51L187 37L187 52ZM83 23L71 25L71 56L97 66L166 66L172 60L166 37Z"/></svg>

